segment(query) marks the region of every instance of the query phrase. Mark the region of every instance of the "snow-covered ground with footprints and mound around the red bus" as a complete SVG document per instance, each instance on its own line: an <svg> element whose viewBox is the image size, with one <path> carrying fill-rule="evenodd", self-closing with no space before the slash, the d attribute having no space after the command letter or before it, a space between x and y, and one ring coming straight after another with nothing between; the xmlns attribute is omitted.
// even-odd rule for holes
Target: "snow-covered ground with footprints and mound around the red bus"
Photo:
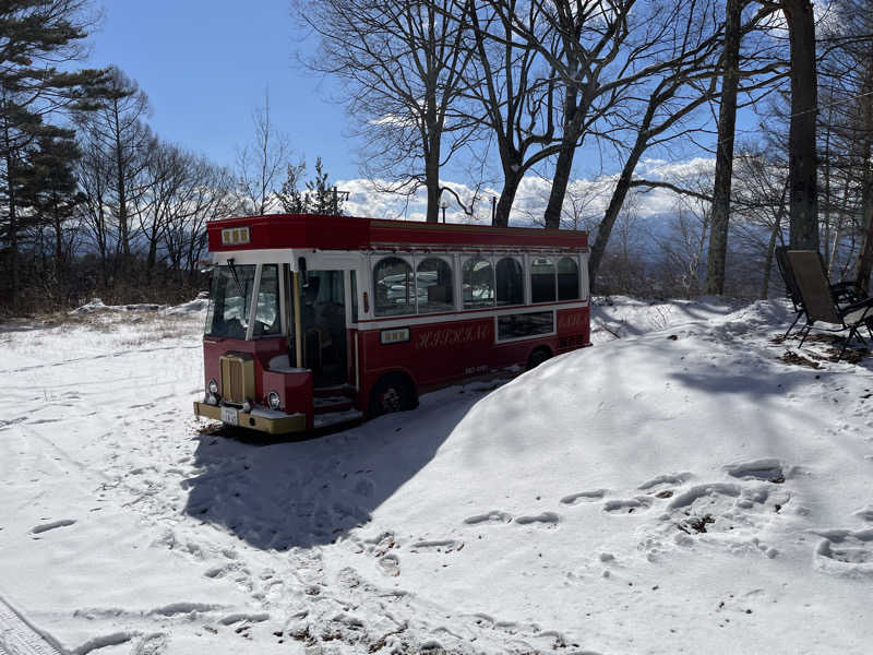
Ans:
<svg viewBox="0 0 873 655"><path fill-rule="evenodd" d="M787 320L614 298L278 444L192 418L202 303L0 325L0 653L869 653L873 358Z"/></svg>

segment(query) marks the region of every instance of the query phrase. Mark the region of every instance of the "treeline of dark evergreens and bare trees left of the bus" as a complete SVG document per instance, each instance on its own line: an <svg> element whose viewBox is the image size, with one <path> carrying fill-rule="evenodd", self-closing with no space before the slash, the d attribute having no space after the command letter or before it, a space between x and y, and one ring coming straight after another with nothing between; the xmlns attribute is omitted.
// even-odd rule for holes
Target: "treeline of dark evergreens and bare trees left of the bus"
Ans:
<svg viewBox="0 0 873 655"><path fill-rule="evenodd" d="M290 164L287 138L253 114L235 168L169 143L123 71L80 69L95 26L85 0L0 8L0 312L190 299L206 222L271 211L336 213L321 160Z"/></svg>

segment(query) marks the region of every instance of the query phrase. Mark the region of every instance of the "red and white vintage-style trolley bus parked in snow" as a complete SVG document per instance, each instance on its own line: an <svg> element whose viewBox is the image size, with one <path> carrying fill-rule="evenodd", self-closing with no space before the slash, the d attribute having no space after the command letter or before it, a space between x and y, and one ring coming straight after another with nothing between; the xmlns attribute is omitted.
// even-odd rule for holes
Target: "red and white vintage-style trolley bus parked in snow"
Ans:
<svg viewBox="0 0 873 655"><path fill-rule="evenodd" d="M579 231L268 215L208 225L194 413L286 433L590 345Z"/></svg>

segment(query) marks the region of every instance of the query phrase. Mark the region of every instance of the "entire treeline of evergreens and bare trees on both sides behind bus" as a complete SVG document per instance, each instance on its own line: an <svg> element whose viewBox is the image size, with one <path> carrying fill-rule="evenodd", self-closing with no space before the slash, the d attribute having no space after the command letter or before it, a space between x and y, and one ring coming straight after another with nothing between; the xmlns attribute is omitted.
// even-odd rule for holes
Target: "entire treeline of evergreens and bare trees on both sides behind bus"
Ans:
<svg viewBox="0 0 873 655"><path fill-rule="evenodd" d="M773 293L773 252L789 242L818 249L834 277L870 279L871 9L870 0L834 0L816 15L809 0L291 4L320 44L300 60L343 84L374 188L421 190L428 221L451 205L497 226L521 216L587 229L597 293L743 297ZM203 285L207 221L342 212L320 160L303 181L268 97L232 169L155 134L135 81L117 68L77 68L91 12L87 0L0 8L0 309L89 295L182 299ZM738 132L738 111L754 111L755 124ZM581 152L618 167L596 192L573 180ZM714 166L642 172L647 157L701 154ZM445 182L450 166L466 167L467 192ZM516 203L526 177L548 180L541 212ZM644 218L646 194L665 190L672 206Z"/></svg>

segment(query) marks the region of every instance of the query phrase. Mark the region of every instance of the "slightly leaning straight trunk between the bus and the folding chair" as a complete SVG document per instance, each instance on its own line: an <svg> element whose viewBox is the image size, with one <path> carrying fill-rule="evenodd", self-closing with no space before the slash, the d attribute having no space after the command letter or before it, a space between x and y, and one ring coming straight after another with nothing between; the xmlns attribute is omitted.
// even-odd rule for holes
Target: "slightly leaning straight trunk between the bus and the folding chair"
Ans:
<svg viewBox="0 0 873 655"><path fill-rule="evenodd" d="M725 73L721 78L721 103L718 108L718 147L716 179L713 186L713 222L709 251L706 255L704 293L725 293L725 261L728 252L730 189L733 177L733 134L737 128L737 87L740 68L740 17L742 0L728 0L725 19Z"/></svg>

